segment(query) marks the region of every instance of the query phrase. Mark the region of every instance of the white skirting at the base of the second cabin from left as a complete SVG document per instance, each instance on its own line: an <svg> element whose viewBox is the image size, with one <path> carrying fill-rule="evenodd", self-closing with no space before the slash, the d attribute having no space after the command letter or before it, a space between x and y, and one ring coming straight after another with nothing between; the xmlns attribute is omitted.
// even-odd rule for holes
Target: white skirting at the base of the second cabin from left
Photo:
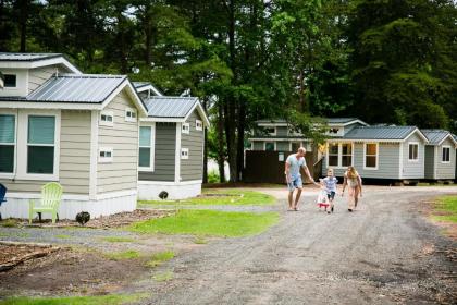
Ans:
<svg viewBox="0 0 457 305"><path fill-rule="evenodd" d="M201 194L201 180L184 182L138 181L138 200L158 200L160 192L169 193L166 199L185 199Z"/></svg>

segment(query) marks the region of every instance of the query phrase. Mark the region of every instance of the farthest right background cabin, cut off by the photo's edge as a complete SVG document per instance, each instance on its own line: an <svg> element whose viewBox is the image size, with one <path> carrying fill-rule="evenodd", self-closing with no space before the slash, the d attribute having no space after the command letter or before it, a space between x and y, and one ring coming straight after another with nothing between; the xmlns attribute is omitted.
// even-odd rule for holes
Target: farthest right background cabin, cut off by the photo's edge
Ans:
<svg viewBox="0 0 457 305"><path fill-rule="evenodd" d="M421 130L429 139L425 146L425 179L454 180L457 141L448 131Z"/></svg>

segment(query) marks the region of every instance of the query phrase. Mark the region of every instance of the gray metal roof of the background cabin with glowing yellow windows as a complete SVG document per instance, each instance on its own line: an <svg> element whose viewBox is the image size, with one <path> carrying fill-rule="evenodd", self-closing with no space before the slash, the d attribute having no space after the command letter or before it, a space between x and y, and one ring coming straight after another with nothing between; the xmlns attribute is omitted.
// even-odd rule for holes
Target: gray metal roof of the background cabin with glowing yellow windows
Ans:
<svg viewBox="0 0 457 305"><path fill-rule="evenodd" d="M405 139L416 126L359 126L343 136L348 139Z"/></svg>

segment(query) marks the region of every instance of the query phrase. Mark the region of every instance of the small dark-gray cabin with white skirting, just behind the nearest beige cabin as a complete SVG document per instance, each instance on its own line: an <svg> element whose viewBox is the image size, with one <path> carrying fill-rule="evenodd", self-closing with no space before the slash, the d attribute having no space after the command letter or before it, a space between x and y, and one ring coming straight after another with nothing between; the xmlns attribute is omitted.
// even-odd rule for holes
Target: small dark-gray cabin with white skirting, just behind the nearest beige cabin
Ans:
<svg viewBox="0 0 457 305"><path fill-rule="evenodd" d="M151 96L139 135L138 199L201 194L205 131L209 120L195 97Z"/></svg>

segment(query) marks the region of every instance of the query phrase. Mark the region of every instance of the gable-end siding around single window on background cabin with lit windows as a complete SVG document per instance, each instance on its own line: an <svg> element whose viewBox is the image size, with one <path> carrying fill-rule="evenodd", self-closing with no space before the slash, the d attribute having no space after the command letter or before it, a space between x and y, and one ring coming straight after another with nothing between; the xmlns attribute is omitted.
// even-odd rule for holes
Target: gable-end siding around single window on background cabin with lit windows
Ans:
<svg viewBox="0 0 457 305"><path fill-rule="evenodd" d="M409 161L409 142L418 142L419 143L419 160L418 161ZM403 143L403 179L423 179L424 175L424 154L425 146L423 144L423 139L419 137L418 133L413 133L409 138L407 138Z"/></svg>

